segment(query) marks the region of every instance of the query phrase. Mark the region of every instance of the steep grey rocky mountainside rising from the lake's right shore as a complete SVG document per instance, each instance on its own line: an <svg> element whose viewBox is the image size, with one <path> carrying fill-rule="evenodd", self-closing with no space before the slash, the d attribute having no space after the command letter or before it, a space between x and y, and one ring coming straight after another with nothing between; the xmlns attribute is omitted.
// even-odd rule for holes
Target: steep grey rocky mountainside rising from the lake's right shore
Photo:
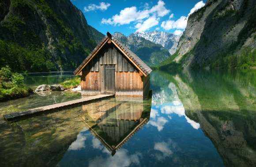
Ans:
<svg viewBox="0 0 256 167"><path fill-rule="evenodd" d="M188 18L177 52L160 68L256 66L256 1L208 0Z"/></svg>

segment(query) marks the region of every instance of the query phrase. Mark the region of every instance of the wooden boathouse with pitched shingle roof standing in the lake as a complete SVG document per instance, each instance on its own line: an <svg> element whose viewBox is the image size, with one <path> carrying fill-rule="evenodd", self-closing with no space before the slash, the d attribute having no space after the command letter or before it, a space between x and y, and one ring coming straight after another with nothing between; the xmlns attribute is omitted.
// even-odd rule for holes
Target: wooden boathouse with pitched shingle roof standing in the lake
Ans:
<svg viewBox="0 0 256 167"><path fill-rule="evenodd" d="M82 95L147 97L151 68L109 32L74 71Z"/></svg>

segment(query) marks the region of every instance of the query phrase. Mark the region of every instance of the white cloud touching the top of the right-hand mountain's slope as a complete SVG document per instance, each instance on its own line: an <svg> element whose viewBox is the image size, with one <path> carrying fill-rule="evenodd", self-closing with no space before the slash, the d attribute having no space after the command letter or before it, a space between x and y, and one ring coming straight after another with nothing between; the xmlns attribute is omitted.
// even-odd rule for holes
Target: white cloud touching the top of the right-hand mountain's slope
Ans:
<svg viewBox="0 0 256 167"><path fill-rule="evenodd" d="M205 4L201 0L198 2L189 12L188 16L191 15L193 12L197 11L201 7L203 7ZM187 27L187 22L188 22L188 16L181 16L179 19L171 20L172 15L169 16L169 20L163 21L161 23L161 27L165 30L170 30L170 29L185 29Z"/></svg>

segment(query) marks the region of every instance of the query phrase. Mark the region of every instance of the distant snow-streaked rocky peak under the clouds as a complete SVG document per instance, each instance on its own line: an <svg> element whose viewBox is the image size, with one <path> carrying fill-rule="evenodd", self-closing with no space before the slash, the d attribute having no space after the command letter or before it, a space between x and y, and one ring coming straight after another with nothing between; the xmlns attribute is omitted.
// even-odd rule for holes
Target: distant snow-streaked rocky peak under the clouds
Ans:
<svg viewBox="0 0 256 167"><path fill-rule="evenodd" d="M174 35L172 33L166 32L159 32L159 31L152 31L152 32L136 32L134 33L135 36L143 37L146 40L149 40L155 44L160 44L162 47L167 49L170 54L174 54L178 42L181 36Z"/></svg>

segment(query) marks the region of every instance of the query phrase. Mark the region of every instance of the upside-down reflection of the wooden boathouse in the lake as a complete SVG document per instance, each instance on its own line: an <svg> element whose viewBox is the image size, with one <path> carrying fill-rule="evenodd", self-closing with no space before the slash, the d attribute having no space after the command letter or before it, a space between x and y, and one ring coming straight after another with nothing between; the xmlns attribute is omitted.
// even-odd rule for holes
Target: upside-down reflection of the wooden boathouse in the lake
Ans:
<svg viewBox="0 0 256 167"><path fill-rule="evenodd" d="M120 149L144 124L149 121L150 104L142 98L115 98L83 105L80 116L91 133L112 153Z"/></svg>

